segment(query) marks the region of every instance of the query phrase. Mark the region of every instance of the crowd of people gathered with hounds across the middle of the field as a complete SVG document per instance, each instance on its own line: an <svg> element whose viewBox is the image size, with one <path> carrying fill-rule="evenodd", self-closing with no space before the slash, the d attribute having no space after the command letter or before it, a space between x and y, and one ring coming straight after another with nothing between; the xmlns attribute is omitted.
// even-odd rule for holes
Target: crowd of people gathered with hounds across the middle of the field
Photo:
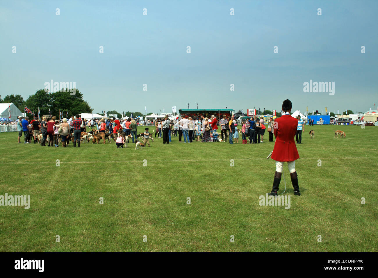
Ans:
<svg viewBox="0 0 378 278"><path fill-rule="evenodd" d="M299 118L297 129L297 143L301 143L301 134L304 131L303 121ZM29 120L29 117L19 117L17 121L17 129L19 131L18 143L24 135L24 143L40 143L41 146L59 147L59 142L62 141L63 147L67 146L67 141L72 138L73 146L80 147L82 133L89 130L98 130L108 134L115 134L112 140L116 143L122 143L126 137L131 137L132 143L135 143L138 138L138 122L135 119L128 118L120 121L116 118L102 118L97 120L86 120L81 118L81 115L71 116L69 119L64 118L57 120L55 116L47 118L43 116L42 119L34 118ZM238 124L234 116L223 115L222 119L218 119L211 115L210 118L200 115L199 117L183 118L177 120L170 120L166 115L164 118L158 118L151 122L155 127L155 138L163 138L163 144L169 144L171 137L178 137L179 143L198 142L214 142L214 141L228 141L230 144L239 143L239 136L242 137L242 144L259 144L264 142L265 130L268 129L268 141L273 142L273 128L274 119L271 117L268 124L264 123L263 117L253 116ZM119 131L122 131L119 133ZM149 129L143 130L143 143L148 144L149 138L153 137ZM42 134L42 135L41 135ZM40 140L38 136L40 135ZM148 136L147 136L148 135ZM120 137L120 138L118 138ZM248 139L247 139L248 138ZM66 144L67 143L67 144ZM124 143L123 143L124 144Z"/></svg>

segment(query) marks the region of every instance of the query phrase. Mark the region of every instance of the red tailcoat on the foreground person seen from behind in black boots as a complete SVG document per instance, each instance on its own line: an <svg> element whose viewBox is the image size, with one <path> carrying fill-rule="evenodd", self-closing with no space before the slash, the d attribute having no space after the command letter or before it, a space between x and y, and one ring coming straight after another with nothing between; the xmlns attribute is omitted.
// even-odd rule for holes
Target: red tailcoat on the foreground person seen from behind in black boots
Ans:
<svg viewBox="0 0 378 278"><path fill-rule="evenodd" d="M298 120L290 115L283 115L274 120L274 136L276 142L271 158L276 161L294 161L299 158L294 136L297 132Z"/></svg>

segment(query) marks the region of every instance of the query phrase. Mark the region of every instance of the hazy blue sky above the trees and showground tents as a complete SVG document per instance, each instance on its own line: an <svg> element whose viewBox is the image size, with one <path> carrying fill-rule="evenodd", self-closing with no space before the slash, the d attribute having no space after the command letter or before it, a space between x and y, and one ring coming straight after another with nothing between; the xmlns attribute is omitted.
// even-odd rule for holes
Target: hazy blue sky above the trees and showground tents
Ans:
<svg viewBox="0 0 378 278"><path fill-rule="evenodd" d="M280 110L287 98L365 112L378 104L377 14L378 1L2 1L1 95L53 79L76 82L94 112ZM304 93L310 79L335 95Z"/></svg>

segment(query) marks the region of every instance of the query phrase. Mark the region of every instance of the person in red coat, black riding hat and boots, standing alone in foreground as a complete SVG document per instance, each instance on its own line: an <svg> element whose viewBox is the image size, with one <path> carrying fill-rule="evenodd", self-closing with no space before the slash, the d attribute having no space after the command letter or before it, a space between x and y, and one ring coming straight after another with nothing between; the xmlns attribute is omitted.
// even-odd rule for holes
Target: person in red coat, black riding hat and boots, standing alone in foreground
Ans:
<svg viewBox="0 0 378 278"><path fill-rule="evenodd" d="M269 195L277 196L280 185L283 162L287 162L290 171L291 183L294 188L294 195L301 195L299 192L298 177L295 171L295 160L299 158L294 136L297 132L298 120L290 116L291 101L286 99L282 103L280 118L274 120L273 133L276 137L271 158L276 160L276 172L274 173L273 189Z"/></svg>

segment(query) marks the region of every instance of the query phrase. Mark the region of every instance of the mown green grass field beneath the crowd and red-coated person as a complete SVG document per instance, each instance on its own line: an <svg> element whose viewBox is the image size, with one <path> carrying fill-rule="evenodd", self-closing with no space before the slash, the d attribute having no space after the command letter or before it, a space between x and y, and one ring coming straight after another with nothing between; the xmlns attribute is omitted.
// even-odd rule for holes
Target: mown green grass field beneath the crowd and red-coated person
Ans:
<svg viewBox="0 0 378 278"><path fill-rule="evenodd" d="M334 139L335 129L347 137ZM285 209L259 205L275 171L268 132L258 145L172 137L141 150L17 144L16 132L2 133L0 195L30 195L30 208L0 206L0 251L376 252L377 137L377 127L306 126L296 162L302 196L285 164Z"/></svg>

